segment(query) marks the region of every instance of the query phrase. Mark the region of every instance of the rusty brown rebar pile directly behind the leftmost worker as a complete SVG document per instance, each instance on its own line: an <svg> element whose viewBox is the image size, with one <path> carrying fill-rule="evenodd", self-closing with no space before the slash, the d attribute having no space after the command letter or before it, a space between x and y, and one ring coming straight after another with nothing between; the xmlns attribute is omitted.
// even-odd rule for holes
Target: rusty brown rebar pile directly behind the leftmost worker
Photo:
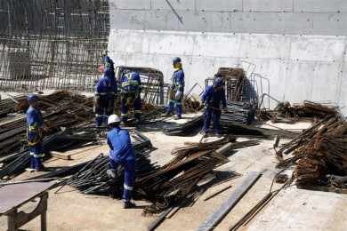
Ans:
<svg viewBox="0 0 347 231"><path fill-rule="evenodd" d="M25 112L28 101L21 99L14 107L15 111ZM44 135L60 131L61 127L73 127L84 124L93 118L93 99L78 94L60 91L39 97L39 106L44 117ZM8 155L20 150L20 143L25 146L25 116L0 124L0 155Z"/></svg>

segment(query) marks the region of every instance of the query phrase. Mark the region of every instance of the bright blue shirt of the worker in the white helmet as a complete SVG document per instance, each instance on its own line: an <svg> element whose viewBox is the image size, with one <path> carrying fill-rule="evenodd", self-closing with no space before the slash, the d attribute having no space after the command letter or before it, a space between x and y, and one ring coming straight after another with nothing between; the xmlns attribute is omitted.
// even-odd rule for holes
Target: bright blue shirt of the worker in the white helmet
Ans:
<svg viewBox="0 0 347 231"><path fill-rule="evenodd" d="M117 162L135 159L129 131L115 127L108 132L107 139L110 148L109 158Z"/></svg>

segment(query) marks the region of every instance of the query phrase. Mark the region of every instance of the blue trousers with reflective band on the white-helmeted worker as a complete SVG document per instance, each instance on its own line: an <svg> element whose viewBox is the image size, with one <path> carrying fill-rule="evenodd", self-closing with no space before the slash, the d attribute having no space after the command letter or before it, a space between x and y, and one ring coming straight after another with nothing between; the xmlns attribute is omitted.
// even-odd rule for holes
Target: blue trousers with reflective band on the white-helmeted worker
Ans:
<svg viewBox="0 0 347 231"><path fill-rule="evenodd" d="M124 191L123 199L125 202L129 202L132 198L133 182L135 179L135 160L125 160L117 162L109 159L109 168L117 172L118 165L122 165L124 168Z"/></svg>

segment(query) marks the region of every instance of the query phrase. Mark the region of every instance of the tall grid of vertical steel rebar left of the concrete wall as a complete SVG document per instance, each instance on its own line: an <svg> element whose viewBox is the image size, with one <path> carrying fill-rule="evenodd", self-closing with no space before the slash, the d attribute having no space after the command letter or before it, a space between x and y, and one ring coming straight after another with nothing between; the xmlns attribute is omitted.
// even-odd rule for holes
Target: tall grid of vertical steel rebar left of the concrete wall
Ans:
<svg viewBox="0 0 347 231"><path fill-rule="evenodd" d="M93 91L108 0L0 0L0 90Z"/></svg>

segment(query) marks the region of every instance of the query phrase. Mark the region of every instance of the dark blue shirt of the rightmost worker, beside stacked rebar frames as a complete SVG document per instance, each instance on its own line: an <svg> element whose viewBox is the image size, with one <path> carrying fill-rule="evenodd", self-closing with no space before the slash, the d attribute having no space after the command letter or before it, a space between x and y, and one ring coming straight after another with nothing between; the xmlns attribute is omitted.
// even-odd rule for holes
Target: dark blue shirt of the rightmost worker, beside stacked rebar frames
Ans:
<svg viewBox="0 0 347 231"><path fill-rule="evenodd" d="M221 102L223 108L227 107L224 88L214 91L213 86L207 86L201 100L207 107L220 108Z"/></svg>

